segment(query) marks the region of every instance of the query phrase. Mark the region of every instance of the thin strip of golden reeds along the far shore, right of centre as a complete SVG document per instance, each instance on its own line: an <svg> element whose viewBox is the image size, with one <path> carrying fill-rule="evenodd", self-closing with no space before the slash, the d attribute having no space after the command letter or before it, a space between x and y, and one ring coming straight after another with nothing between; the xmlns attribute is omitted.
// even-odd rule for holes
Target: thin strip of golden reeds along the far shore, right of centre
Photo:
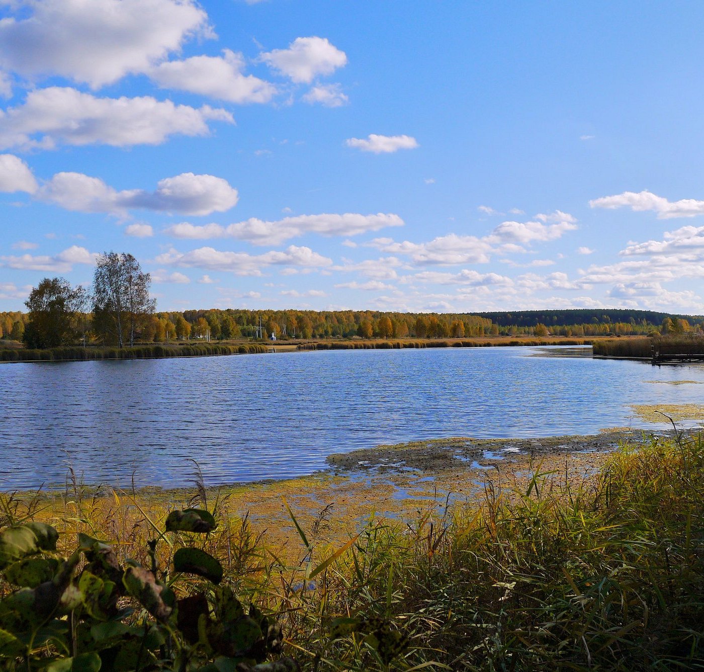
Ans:
<svg viewBox="0 0 704 672"><path fill-rule="evenodd" d="M588 338L426 338L426 339L368 339L345 341L310 341L298 344L299 350L374 350L401 348L477 348L492 346L539 346L539 345L589 345L593 339Z"/></svg>

